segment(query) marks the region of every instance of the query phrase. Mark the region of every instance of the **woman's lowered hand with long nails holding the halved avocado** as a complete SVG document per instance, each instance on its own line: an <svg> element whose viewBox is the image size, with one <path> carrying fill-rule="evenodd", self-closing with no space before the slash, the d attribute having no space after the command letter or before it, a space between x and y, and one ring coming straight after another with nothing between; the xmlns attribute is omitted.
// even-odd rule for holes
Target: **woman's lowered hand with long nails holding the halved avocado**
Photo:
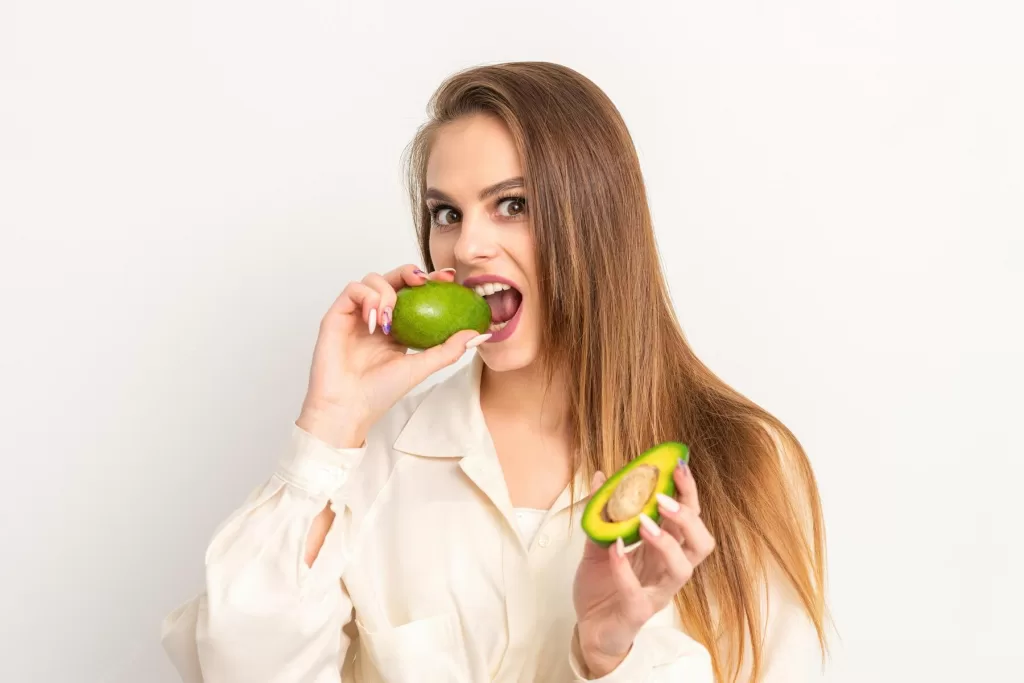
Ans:
<svg viewBox="0 0 1024 683"><path fill-rule="evenodd" d="M700 520L689 468L677 467L673 477L676 499L659 499L662 526L641 523L639 548L625 553L622 539L608 548L587 540L572 600L581 654L594 678L610 673L626 658L641 627L672 603L694 567L715 549L715 539ZM591 490L605 479L596 473Z"/></svg>

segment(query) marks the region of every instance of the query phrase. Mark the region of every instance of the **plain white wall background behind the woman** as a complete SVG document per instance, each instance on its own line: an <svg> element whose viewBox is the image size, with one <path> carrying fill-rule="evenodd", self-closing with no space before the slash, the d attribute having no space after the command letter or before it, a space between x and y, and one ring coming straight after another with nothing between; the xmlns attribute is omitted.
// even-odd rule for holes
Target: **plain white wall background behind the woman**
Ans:
<svg viewBox="0 0 1024 683"><path fill-rule="evenodd" d="M1021 680L1011 4L3 0L0 680L175 680L319 316L416 259L428 96L506 59L618 104L687 334L811 454L829 680Z"/></svg>

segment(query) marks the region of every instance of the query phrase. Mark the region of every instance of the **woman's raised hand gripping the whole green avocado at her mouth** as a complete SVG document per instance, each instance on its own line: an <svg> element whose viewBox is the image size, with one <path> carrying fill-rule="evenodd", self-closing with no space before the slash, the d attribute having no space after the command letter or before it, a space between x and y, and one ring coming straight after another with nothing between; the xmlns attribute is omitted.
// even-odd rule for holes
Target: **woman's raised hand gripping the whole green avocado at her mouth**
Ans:
<svg viewBox="0 0 1024 683"><path fill-rule="evenodd" d="M463 330L439 346L409 354L388 335L395 290L427 280L452 282L455 272L427 275L404 265L348 284L321 322L299 427L335 447L360 446L370 427L399 398L486 341L489 335Z"/></svg>

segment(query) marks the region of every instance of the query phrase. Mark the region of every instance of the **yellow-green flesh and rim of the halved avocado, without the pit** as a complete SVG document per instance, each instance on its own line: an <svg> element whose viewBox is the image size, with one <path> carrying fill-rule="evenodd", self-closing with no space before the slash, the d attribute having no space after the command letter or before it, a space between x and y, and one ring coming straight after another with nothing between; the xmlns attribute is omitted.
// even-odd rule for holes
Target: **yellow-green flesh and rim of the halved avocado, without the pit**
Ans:
<svg viewBox="0 0 1024 683"><path fill-rule="evenodd" d="M590 501L587 503L587 507L584 508L583 518L581 519L581 525L583 526L584 532L589 536L594 543L601 546L602 548L607 548L615 542L616 539L622 538L623 543L630 546L637 541L640 541L640 517L632 517L622 522L608 522L602 519L601 513L604 510L604 506L608 502L608 497L611 492L615 489L618 482L622 481L623 476L629 472L634 467L639 465L653 465L658 470L657 484L654 487L655 494L665 494L666 496L675 497L676 495L676 481L672 474L679 464L679 461L684 463L689 462L689 446L685 443L680 443L678 441L665 441L659 443L652 449L645 451L644 453L637 456L635 459L627 463L622 469L612 474L608 479L601 484L591 496ZM644 512L647 516L654 520L656 523L660 518L660 514L657 511L657 499L651 496L650 503L644 508Z"/></svg>

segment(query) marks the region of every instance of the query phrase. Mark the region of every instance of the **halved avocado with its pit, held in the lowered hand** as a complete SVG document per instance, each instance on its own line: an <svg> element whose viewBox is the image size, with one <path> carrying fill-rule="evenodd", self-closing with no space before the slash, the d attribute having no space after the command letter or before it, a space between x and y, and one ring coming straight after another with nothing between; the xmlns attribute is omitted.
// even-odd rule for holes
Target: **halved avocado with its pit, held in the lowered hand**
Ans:
<svg viewBox="0 0 1024 683"><path fill-rule="evenodd" d="M583 530L605 548L616 539L627 546L639 541L640 513L658 520L655 495L676 495L672 473L680 461L686 463L689 458L689 447L678 441L666 441L642 453L594 492L583 511Z"/></svg>

